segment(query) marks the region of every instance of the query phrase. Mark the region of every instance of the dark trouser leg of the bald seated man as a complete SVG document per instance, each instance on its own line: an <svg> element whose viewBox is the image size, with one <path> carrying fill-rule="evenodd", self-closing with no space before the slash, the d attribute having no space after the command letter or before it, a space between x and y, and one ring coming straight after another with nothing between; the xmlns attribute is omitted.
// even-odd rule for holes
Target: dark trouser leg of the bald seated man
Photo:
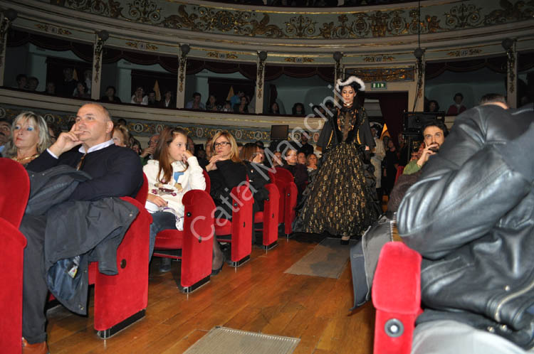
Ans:
<svg viewBox="0 0 534 354"><path fill-rule="evenodd" d="M24 215L20 230L28 245L24 249L22 279L22 336L28 343L46 340L45 305L48 286L43 276L46 216Z"/></svg>

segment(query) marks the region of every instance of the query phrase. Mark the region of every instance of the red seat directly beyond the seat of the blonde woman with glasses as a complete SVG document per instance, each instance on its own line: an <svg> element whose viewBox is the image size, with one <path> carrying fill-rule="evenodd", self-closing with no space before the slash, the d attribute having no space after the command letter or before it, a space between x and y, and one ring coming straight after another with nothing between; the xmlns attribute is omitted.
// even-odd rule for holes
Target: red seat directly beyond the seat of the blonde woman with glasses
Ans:
<svg viewBox="0 0 534 354"><path fill-rule="evenodd" d="M254 214L254 224L263 224L255 231L263 232L263 249L271 250L278 242L278 205L280 203L280 193L273 183L266 184L265 188L269 192L269 197L263 202L263 211Z"/></svg>

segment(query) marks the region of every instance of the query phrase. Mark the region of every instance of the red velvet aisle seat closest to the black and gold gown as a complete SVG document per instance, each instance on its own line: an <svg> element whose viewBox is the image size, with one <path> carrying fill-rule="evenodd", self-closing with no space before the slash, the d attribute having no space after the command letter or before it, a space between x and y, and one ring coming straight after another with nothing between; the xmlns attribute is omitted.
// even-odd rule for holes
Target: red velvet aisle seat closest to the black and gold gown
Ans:
<svg viewBox="0 0 534 354"><path fill-rule="evenodd" d="M298 189L295 185L293 173L286 168L276 167L275 183L280 192L280 206L278 208L279 221L284 224L284 233L289 236L293 232L292 223L295 220Z"/></svg>

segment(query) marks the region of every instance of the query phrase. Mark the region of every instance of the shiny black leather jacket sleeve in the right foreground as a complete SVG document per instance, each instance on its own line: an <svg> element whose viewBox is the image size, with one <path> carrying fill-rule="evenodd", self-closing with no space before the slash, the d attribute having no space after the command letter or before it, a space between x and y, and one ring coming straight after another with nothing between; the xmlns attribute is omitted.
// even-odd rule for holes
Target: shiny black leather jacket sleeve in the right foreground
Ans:
<svg viewBox="0 0 534 354"><path fill-rule="evenodd" d="M501 154L525 130L515 123L496 106L475 107L456 119L399 206L397 227L409 247L427 259L444 257L486 235L530 193L530 178Z"/></svg>

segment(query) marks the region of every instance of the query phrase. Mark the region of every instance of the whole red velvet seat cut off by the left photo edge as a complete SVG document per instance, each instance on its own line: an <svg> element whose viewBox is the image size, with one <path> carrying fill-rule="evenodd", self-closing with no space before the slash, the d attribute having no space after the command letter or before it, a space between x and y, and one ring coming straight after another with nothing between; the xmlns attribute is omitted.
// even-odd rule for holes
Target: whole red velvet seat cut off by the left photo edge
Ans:
<svg viewBox="0 0 534 354"><path fill-rule="evenodd" d="M0 259L4 264L0 281L0 348L3 353L21 353L26 237L19 226L30 193L26 169L16 161L0 158L0 186L4 191L0 193Z"/></svg>

